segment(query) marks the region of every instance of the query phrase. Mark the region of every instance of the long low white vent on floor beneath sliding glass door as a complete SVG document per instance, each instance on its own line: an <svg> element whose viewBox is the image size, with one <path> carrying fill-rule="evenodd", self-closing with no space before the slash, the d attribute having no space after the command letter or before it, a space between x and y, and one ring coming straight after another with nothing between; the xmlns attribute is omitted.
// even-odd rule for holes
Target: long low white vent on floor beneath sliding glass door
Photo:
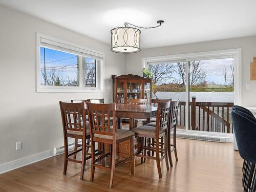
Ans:
<svg viewBox="0 0 256 192"><path fill-rule="evenodd" d="M203 141L214 141L225 143L225 137L217 137L217 136L205 136L205 135L198 135L198 134L188 134L188 133L177 133L178 138L183 139L196 139L196 140L203 140Z"/></svg>

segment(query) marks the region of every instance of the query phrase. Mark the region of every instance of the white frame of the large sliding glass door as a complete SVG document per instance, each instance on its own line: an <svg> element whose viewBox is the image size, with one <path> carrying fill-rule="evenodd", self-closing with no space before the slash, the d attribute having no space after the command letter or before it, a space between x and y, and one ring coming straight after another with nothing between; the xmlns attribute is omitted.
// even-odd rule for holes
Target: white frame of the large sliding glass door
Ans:
<svg viewBox="0 0 256 192"><path fill-rule="evenodd" d="M242 105L242 49L228 49L228 50L218 50L218 51L206 51L206 52L199 52L199 53L187 53L187 54L176 54L176 55L166 55L166 56L157 56L157 57L143 57L141 63L141 71L143 68L147 68L148 62L161 62L161 61L185 61L186 62L186 77L188 78L189 73L189 65L188 61L191 60L206 60L206 59L220 59L220 58L227 58L228 56L233 57L234 62L234 104ZM188 82L188 81L187 81ZM189 113L188 113L188 102L189 102L189 91L188 91L188 83L186 85L186 117L185 117L185 124L186 130L177 130L180 133L191 133L191 134L198 134L198 135L212 135L212 136L219 136L225 137L226 141L233 142L233 134L227 133L215 133L215 132L205 132L205 131L195 131L189 130Z"/></svg>

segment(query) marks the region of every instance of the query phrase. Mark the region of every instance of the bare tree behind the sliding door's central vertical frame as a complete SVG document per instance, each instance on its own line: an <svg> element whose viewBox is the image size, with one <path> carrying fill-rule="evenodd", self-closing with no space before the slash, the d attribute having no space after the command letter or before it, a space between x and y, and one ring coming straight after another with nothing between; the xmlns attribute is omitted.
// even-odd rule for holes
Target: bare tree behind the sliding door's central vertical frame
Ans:
<svg viewBox="0 0 256 192"><path fill-rule="evenodd" d="M190 84L198 84L202 81L205 81L207 74L205 70L202 68L201 61L189 61L190 65ZM177 62L176 68L174 71L180 76L182 86L186 83L186 63L185 62Z"/></svg>

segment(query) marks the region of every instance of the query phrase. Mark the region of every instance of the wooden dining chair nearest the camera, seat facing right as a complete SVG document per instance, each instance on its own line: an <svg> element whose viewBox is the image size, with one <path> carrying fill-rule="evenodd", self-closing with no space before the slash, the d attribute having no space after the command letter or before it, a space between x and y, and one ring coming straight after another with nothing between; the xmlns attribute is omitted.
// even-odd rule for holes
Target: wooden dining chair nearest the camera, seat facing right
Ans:
<svg viewBox="0 0 256 192"><path fill-rule="evenodd" d="M115 167L121 163L130 161L130 171L134 175L134 133L128 130L118 130L116 126L116 104L96 104L87 102L87 111L90 122L90 134L92 142L92 167L91 167L91 181L94 180L95 167L104 170L111 171L110 185L112 188ZM111 117L113 118L113 125L111 126ZM118 163L116 163L116 148L117 144L122 141L130 140L130 156ZM110 152L104 153L96 159L95 155L95 142L110 144ZM104 151L104 150L103 150ZM110 166L103 164L98 164L99 161L104 160L104 158L111 158Z"/></svg>

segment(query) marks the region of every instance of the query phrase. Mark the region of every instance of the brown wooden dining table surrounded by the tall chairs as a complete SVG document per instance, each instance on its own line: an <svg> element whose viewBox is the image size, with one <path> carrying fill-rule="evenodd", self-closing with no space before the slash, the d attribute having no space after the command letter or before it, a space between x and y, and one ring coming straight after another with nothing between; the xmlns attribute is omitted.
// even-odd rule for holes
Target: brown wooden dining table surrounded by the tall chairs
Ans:
<svg viewBox="0 0 256 192"><path fill-rule="evenodd" d="M121 129L121 118L129 118L130 130L135 128L134 119L146 119L150 122L151 117L155 117L157 106L151 104L116 104L116 117L118 129Z"/></svg>

